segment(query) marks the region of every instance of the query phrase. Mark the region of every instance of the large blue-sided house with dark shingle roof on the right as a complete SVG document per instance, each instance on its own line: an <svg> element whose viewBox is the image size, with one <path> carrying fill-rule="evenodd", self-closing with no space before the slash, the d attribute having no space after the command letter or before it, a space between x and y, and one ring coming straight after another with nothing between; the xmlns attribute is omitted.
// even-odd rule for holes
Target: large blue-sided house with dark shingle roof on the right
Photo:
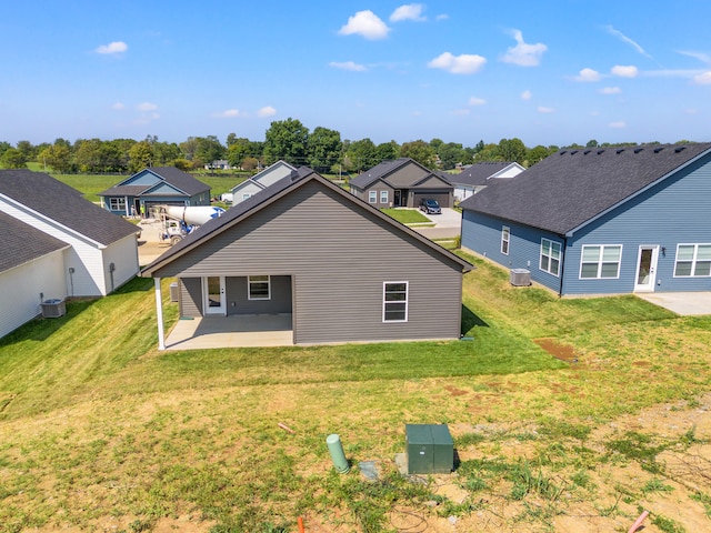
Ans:
<svg viewBox="0 0 711 533"><path fill-rule="evenodd" d="M560 295L711 291L711 143L561 150L460 207L463 248Z"/></svg>

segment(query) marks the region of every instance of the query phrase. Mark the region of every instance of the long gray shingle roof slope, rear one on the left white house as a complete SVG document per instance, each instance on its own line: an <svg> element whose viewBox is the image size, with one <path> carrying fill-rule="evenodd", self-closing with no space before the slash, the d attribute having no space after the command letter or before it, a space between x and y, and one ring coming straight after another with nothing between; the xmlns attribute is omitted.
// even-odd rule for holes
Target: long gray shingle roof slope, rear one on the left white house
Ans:
<svg viewBox="0 0 711 533"><path fill-rule="evenodd" d="M81 197L42 172L0 170L0 194L71 230L109 245L137 232L136 225Z"/></svg>

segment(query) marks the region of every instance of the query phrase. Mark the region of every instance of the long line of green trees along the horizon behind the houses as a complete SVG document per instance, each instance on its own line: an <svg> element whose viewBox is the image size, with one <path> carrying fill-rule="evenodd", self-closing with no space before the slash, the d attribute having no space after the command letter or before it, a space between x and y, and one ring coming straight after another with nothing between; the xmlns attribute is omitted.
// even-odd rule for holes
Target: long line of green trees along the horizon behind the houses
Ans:
<svg viewBox="0 0 711 533"><path fill-rule="evenodd" d="M595 140L585 144L588 148L599 145L611 144L598 144ZM583 147L571 144L564 148ZM341 140L340 132L328 128L317 127L309 131L299 120L289 118L272 122L263 141L240 138L236 133L227 135L226 143L216 135L189 137L180 143L159 141L156 135L148 135L141 141L79 139L73 143L60 138L53 143L36 145L19 141L14 147L0 141L0 167L19 169L28 162L37 162L48 172L121 174L164 165L186 171L212 169L217 161L227 161L232 169L253 171L283 160L296 167L308 165L321 173L358 174L382 161L398 158L411 158L433 170L452 170L481 161L514 161L528 168L559 149L557 145L527 148L518 138L488 144L481 140L473 147L441 139L375 144L369 138Z"/></svg>

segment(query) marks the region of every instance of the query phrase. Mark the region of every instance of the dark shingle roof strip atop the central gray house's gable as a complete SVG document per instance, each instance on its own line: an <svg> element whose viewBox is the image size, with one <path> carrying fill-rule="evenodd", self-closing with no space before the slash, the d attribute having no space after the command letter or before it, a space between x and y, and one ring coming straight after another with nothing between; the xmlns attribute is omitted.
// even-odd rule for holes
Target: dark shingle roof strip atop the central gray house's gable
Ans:
<svg viewBox="0 0 711 533"><path fill-rule="evenodd" d="M171 247L168 251L166 251L156 261L153 261L151 264L146 266L141 271L141 275L150 276L152 274L152 272L158 270L166 262L170 262L171 258L179 255L183 250L187 250L187 249L190 249L190 248L192 248L194 245L198 245L198 243L200 241L209 239L210 234L219 232L223 228L229 227L232 222L234 222L234 221L241 219L242 217L247 215L250 211L252 211L252 210L258 211L262 207L267 205L270 200L276 199L282 192L284 192L287 189L289 189L291 187L296 187L296 184L298 182L301 182L301 181L303 181L304 179L307 179L309 177L313 177L313 178L317 178L319 180L322 180L323 183L330 183L328 180L322 178L320 174L318 174L314 170L310 169L309 167L300 167L299 169L292 171L290 175L288 175L286 178L282 178L281 180L277 181L276 183L269 185L268 188L266 188L266 189L259 191L258 193L253 194L252 197L248 198L243 202L240 202L240 203L233 205L232 208L228 209L226 211L226 213L222 214L222 217L209 220L206 224L201 225L196 231L191 232L189 235L187 235L180 242L178 242L177 244ZM472 265L469 264L469 262L467 262L463 259L459 258L458 255L455 255L455 254L453 254L453 253L440 248L438 244L434 244L429 239L427 239L424 237L421 237L415 231L410 230L409 228L407 228L403 224L400 224L400 222L395 221L394 219L391 219L390 217L388 217L385 214L382 214L378 209L375 209L372 205L370 205L369 203L356 198L350 192L344 191L343 189L341 189L338 185L331 185L331 187L333 188L334 191L339 192L340 194L343 194L343 197L349 199L350 201L358 202L359 204L364 205L365 209L372 210L372 213L373 213L374 217L381 217L381 218L388 220L390 223L392 223L393 225L400 228L402 231L405 231L405 232L414 235L418 240L420 240L422 242L425 242L427 244L431 245L438 252L440 252L443 255L447 255L448 258L450 258L451 260L454 260L455 262L460 263L465 271L469 271L469 270L472 269Z"/></svg>

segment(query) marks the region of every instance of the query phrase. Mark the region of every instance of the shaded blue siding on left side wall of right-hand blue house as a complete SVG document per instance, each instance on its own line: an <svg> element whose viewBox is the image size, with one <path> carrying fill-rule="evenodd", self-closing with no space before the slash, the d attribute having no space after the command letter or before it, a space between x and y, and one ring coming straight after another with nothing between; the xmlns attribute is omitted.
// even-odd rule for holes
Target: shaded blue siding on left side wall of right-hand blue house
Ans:
<svg viewBox="0 0 711 533"><path fill-rule="evenodd" d="M509 254L501 253L501 231L508 227ZM560 292L561 278L541 270L541 239L550 239L561 244L564 250L564 239L550 232L541 232L528 225L475 213L462 212L462 247L468 248L507 269L527 269L531 272L531 280ZM561 261L562 268L562 261Z"/></svg>

